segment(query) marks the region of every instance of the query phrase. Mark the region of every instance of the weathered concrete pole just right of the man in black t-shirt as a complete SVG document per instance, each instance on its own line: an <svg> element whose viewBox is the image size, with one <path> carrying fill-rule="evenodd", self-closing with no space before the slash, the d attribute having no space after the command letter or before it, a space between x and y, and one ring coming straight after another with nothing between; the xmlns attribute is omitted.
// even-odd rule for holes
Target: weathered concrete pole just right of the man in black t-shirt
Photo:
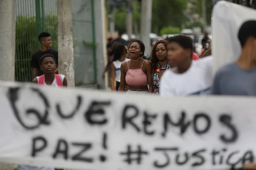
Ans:
<svg viewBox="0 0 256 170"><path fill-rule="evenodd" d="M68 86L75 86L72 0L57 0L59 73L65 75Z"/></svg>

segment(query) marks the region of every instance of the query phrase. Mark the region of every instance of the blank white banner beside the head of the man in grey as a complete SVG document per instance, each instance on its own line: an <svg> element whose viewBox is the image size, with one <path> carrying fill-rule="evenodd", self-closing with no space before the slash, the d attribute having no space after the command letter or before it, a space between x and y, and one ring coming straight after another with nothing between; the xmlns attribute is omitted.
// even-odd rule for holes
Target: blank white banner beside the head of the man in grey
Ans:
<svg viewBox="0 0 256 170"><path fill-rule="evenodd" d="M247 20L256 20L256 10L227 1L219 1L212 13L214 73L235 62L241 54L238 31Z"/></svg>

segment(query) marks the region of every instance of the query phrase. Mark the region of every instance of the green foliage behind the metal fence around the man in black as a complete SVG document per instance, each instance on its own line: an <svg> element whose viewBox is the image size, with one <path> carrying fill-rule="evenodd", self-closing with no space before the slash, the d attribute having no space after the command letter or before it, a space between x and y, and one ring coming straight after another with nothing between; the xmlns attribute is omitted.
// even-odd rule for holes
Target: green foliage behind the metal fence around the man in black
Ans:
<svg viewBox="0 0 256 170"><path fill-rule="evenodd" d="M45 31L51 34L52 48L58 49L57 16L45 16ZM37 28L43 30L43 24L37 23L35 17L18 16L16 19L15 40L15 81L31 82L32 68L30 61L32 54L39 49Z"/></svg>

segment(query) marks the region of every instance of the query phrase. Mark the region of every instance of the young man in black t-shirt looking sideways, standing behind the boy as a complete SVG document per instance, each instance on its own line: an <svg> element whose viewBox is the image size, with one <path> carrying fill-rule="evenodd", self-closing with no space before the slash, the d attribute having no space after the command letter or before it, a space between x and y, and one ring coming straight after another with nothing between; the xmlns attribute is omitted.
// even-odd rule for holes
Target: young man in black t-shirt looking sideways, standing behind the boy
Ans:
<svg viewBox="0 0 256 170"><path fill-rule="evenodd" d="M58 51L51 49L52 47L51 35L46 32L42 32L38 36L38 39L41 43L41 48L40 50L35 52L31 58L31 67L33 68L33 79L37 76L44 74L43 71L40 69L40 64L39 64L39 60L44 54L52 54L55 57L56 64L58 66ZM55 73L56 74L58 73L58 67L55 70Z"/></svg>

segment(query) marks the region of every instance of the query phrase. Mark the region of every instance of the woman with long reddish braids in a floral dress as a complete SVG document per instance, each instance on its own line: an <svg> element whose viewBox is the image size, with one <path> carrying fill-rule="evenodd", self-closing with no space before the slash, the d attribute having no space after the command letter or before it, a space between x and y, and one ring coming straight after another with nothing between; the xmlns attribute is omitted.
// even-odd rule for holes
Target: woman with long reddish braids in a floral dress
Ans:
<svg viewBox="0 0 256 170"><path fill-rule="evenodd" d="M162 74L170 69L170 65L167 58L167 41L166 40L158 40L154 45L151 52L151 65L153 68L152 72L152 85L154 87L153 94L159 94L159 86L160 86L160 78ZM129 88L126 85L125 90L128 91Z"/></svg>

